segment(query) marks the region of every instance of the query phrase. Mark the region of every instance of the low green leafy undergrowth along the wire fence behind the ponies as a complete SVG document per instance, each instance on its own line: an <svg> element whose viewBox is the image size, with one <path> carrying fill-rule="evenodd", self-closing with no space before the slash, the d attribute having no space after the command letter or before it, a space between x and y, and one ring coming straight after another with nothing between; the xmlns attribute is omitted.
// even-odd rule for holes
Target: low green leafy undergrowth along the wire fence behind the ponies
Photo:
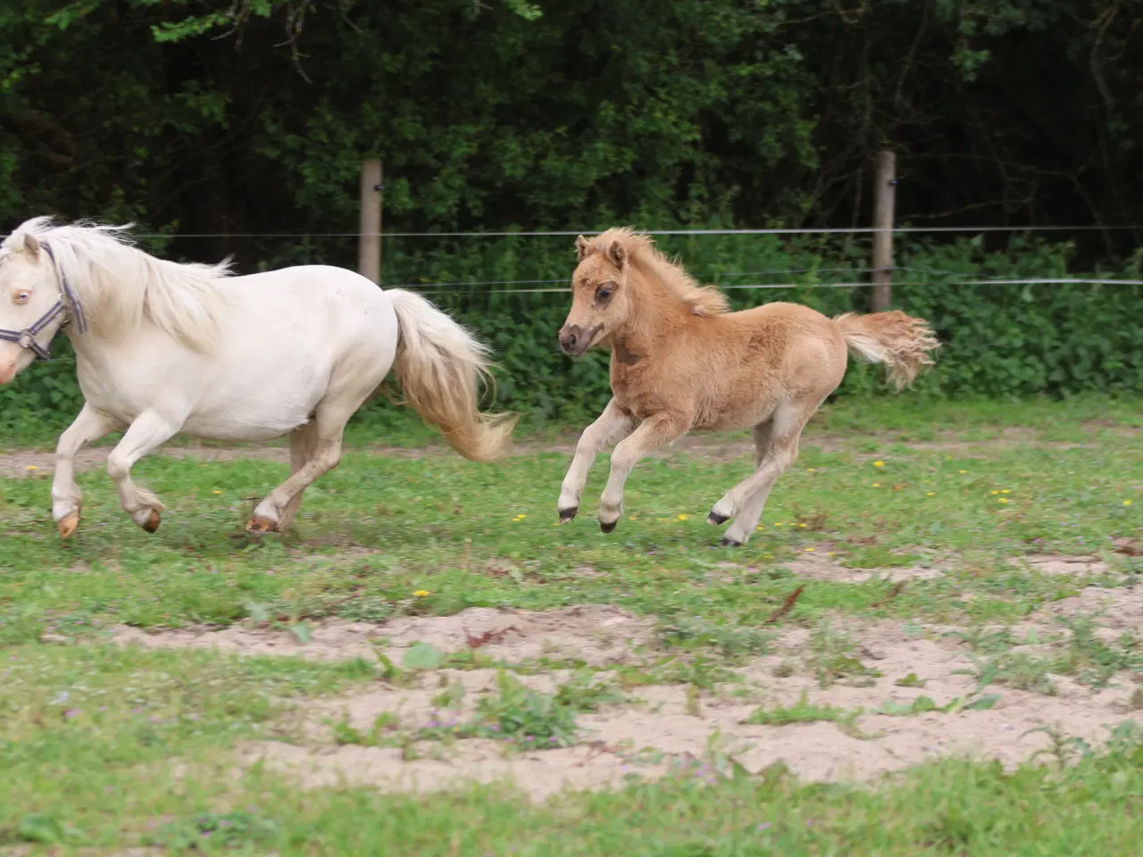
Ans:
<svg viewBox="0 0 1143 857"><path fill-rule="evenodd" d="M602 408L609 395L608 355L572 361L555 343L569 305L570 239L439 239L432 248L418 243L425 240L386 242L385 286L446 283L422 290L491 345L499 407L527 413L533 424L582 421ZM703 280L728 288L736 309L770 301L796 301L828 314L869 309L869 289L825 288L868 282L866 248L857 242L687 235L660 243ZM1069 245L1023 239L999 250L985 249L980 239L902 247L894 302L930 320L943 345L937 367L920 377L911 395L1010 399L1143 391L1143 326L1137 323L1143 287L988 282L1076 277L1069 272L1070 254ZM1140 279L1138 257L1113 274L1095 275ZM793 287L742 288L785 283ZM0 390L0 431L42 431L79 411L74 357L63 341L56 352L53 362L33 366ZM839 395L881 394L880 378L879 368L854 365ZM384 425L393 407L378 397L359 419Z"/></svg>

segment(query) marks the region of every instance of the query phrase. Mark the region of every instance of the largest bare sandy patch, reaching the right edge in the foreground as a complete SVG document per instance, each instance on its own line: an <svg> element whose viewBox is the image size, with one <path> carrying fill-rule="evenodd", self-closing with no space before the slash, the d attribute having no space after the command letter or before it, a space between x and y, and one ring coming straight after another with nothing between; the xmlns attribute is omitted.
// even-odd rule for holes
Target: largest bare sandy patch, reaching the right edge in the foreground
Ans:
<svg viewBox="0 0 1143 857"><path fill-rule="evenodd" d="M1094 601L1095 594L1087 598ZM1141 607L1143 601L1132 593L1118 602L1114 622L1132 622ZM1127 674L1113 676L1101 690L1053 676L1053 695L1000 683L981 688L968 644L950 631L901 622L839 626L833 633L845 639L847 663L860 668L823 686L829 655L815 643L815 632L789 630L777 638L773 655L737 670L741 683L701 695L689 686L636 687L624 703L581 713L580 743L553 750L521 752L482 738L421 739L419 729L464 721L478 699L496 692L491 671L438 671L427 673L421 687L382 687L311 704L301 740L253 744L245 758L312 787L346 782L435 791L503 779L542 799L565 787L607 788L632 777L709 776L719 760L729 758L751 771L783 762L815 782L866 780L951 755L997 759L1010 768L1050 752L1053 736L1098 746L1133 716L1134 683ZM410 625L403 639L415 635L425 636ZM605 671L597 680L609 676ZM554 673L520 680L552 692L566 678ZM463 703L442 712L437 695L456 683L464 689ZM983 695L996 698L977 708L962 707ZM928 703L918 703L920 697ZM933 710L957 700L961 705L949 711ZM816 706L818 714L807 714L806 706ZM746 722L759 708L778 724ZM403 748L336 746L331 740L333 721L342 719L363 734L382 713L389 728L407 730Z"/></svg>

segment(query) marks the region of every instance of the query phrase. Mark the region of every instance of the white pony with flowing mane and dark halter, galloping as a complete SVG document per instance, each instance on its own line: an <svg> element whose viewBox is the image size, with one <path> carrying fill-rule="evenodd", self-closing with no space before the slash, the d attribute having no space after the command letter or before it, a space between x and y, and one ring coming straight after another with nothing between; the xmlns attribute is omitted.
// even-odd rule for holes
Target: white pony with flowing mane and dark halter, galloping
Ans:
<svg viewBox="0 0 1143 857"><path fill-rule="evenodd" d="M129 226L53 225L35 217L0 243L0 384L64 326L85 405L59 436L51 516L79 524L75 454L126 427L107 457L123 510L154 532L162 504L131 466L178 432L223 441L290 435L290 478L246 524L288 527L306 486L337 466L345 423L390 368L406 399L456 451L489 460L515 418L481 414L487 349L418 295L382 291L338 267L231 277L131 247Z"/></svg>

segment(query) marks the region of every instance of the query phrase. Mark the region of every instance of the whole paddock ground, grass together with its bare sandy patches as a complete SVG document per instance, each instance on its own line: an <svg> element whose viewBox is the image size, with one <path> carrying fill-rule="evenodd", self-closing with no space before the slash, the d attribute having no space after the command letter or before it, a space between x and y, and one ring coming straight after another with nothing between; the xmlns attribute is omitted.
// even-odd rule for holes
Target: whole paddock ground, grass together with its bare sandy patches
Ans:
<svg viewBox="0 0 1143 857"><path fill-rule="evenodd" d="M153 536L87 470L61 542L9 448L0 850L1136 854L1140 405L828 408L741 548L744 438L642 463L605 536L606 456L554 523L566 438L357 428L261 542L281 450L142 462Z"/></svg>

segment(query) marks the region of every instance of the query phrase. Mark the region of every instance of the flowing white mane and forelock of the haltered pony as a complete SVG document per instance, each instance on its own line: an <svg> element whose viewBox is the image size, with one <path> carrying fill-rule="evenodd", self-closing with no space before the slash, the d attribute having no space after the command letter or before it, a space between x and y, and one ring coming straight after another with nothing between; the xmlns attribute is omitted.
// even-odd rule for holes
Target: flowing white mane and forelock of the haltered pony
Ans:
<svg viewBox="0 0 1143 857"><path fill-rule="evenodd" d="M87 221L57 226L50 217L33 217L0 249L23 246L29 233L51 248L59 274L67 278L91 333L101 338L129 335L146 320L190 349L213 350L226 304L218 281L230 277L230 259L217 265L157 259L131 246L123 234L130 227Z"/></svg>

